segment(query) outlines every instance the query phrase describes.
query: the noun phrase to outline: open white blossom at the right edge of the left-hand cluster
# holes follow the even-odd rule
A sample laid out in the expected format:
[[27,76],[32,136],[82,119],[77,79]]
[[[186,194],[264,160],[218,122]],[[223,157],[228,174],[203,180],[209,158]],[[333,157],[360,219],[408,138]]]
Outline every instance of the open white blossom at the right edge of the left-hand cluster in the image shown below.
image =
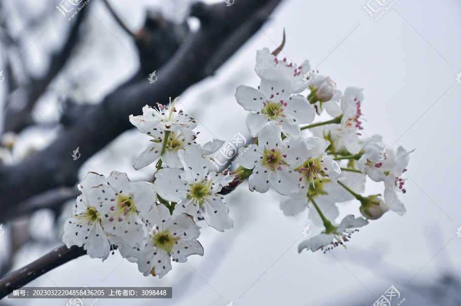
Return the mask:
[[187,213],[196,222],[198,218],[204,218],[218,231],[232,228],[234,222],[229,217],[229,209],[218,192],[234,178],[228,173],[208,173],[212,163],[203,157],[198,145],[188,146],[179,152],[179,159],[184,170],[164,168],[155,174],[157,193],[162,199],[177,203],[173,211],[175,214]]

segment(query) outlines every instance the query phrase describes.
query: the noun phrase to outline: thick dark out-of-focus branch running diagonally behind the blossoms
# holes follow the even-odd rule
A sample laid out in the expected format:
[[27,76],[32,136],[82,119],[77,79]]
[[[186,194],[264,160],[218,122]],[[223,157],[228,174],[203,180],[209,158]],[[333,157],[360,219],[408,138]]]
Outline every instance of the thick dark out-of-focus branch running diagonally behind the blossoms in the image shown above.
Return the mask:
[[[216,65],[232,55],[220,53],[223,46],[237,50],[257,32],[262,20],[268,18],[280,1],[241,0],[232,7],[222,3],[207,7],[211,12],[207,25],[191,34],[175,56],[157,71],[158,80],[154,84],[140,80],[121,86],[78,122],[60,130],[59,138],[48,148],[18,165],[0,167],[2,212],[15,211],[17,208],[11,203],[25,201],[48,189],[75,185],[79,167],[133,127],[128,120],[130,114],[139,114],[145,104],[168,101],[169,97],[178,96],[211,75],[218,68]],[[252,22],[253,19],[256,21]],[[233,41],[232,46],[228,45],[229,40]],[[70,154],[77,147],[80,147],[81,157],[73,161]]]

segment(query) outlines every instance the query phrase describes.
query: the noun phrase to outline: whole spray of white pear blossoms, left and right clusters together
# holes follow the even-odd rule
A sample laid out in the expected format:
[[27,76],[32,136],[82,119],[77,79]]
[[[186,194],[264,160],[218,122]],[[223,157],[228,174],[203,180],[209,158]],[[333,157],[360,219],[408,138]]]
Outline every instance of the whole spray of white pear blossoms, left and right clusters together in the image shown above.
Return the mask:
[[[222,194],[245,179],[251,191],[274,188],[285,195],[281,208],[286,215],[307,208],[312,222],[325,228],[302,242],[300,252],[326,252],[344,245],[368,220],[389,210],[405,213],[397,194],[406,192],[402,176],[410,152],[363,133],[362,89],[348,87],[342,93],[330,77],[310,71],[307,60],[298,66],[266,48],[257,52],[255,71],[259,86],[241,85],[235,94],[249,112],[246,124],[254,137],[253,144],[240,148],[238,169],[210,169],[207,156],[224,142],[197,144],[197,121],[176,110],[178,98],[168,107],[146,105],[142,115],[130,116],[150,137],[133,166],[156,162],[153,182],[131,182],[117,171],[109,177],[88,173],[64,227],[66,245],[83,246],[102,260],[118,249],[144,275],[161,278],[172,269],[172,260],[183,263],[192,254],[203,255],[197,241],[200,221],[218,231],[233,228]],[[312,123],[323,110],[332,119]],[[383,195],[363,195],[367,178],[384,182]],[[349,214],[335,225],[338,204],[354,199],[362,216]]]

